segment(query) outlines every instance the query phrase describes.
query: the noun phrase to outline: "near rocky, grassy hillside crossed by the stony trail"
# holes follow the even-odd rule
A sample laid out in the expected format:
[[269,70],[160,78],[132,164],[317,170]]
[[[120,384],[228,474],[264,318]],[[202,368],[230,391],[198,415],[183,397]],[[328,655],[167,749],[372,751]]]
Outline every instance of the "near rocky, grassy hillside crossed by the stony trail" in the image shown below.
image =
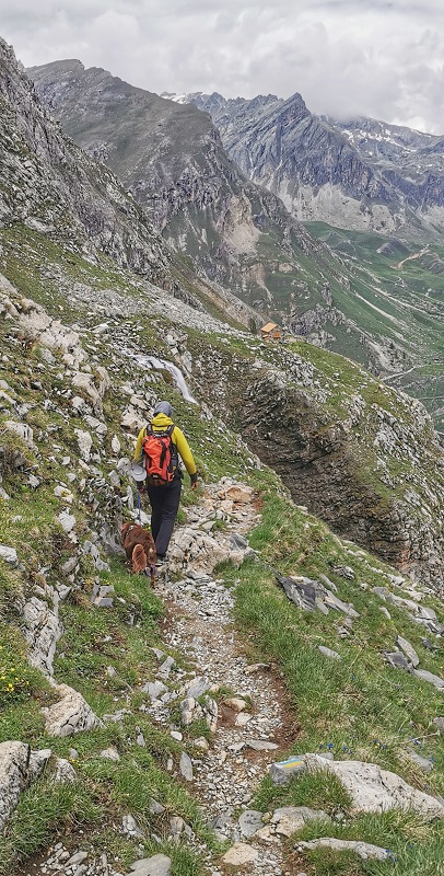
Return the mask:
[[[136,861],[147,876],[222,876],[234,863],[257,876],[315,864],[364,876],[385,872],[377,856],[395,876],[414,876],[420,864],[427,876],[439,873],[444,627],[432,586],[342,543],[293,505],[250,449],[265,456],[291,433],[295,458],[307,448],[300,473],[312,470],[315,484],[323,470],[324,477],[328,468],[340,471],[347,503],[357,473],[344,465],[359,440],[374,496],[378,468],[379,487],[398,473],[399,492],[386,484],[386,507],[396,503],[404,522],[417,495],[417,535],[411,527],[402,561],[416,539],[422,555],[410,566],[424,579],[432,570],[436,588],[440,539],[425,502],[432,508],[433,489],[443,491],[439,469],[433,486],[427,480],[440,460],[424,414],[408,413],[339,357],[309,345],[273,355],[167,295],[148,318],[141,301],[151,310],[160,290],[109,266],[103,288],[100,267],[66,262],[37,232],[23,253],[22,291],[0,279],[2,876],[14,865],[124,876]],[[40,285],[36,265],[48,253],[59,272]],[[45,308],[25,297],[31,288]],[[165,356],[159,370],[144,358],[151,351]],[[200,404],[184,400],[170,362],[187,369]],[[258,379],[248,392],[252,372]],[[165,395],[202,486],[196,495],[185,485],[166,577],[153,592],[126,570],[118,532],[137,516],[128,475],[136,433]],[[407,439],[412,451],[401,465]],[[312,449],[318,462],[329,460],[317,473]],[[278,466],[284,474],[297,464],[285,469],[288,461]],[[308,484],[305,476],[313,503]],[[297,493],[295,481],[289,485]],[[334,481],[324,493],[339,503]],[[382,522],[388,554],[399,526],[390,515]],[[272,762],[296,752],[295,777],[274,784]],[[334,757],[328,770],[337,774],[319,776],[327,763],[318,752]],[[343,768],[359,787],[341,779]],[[384,817],[369,805],[369,779],[393,809]],[[346,845],[312,849],[319,835]],[[371,843],[370,869],[347,844],[357,840]]]

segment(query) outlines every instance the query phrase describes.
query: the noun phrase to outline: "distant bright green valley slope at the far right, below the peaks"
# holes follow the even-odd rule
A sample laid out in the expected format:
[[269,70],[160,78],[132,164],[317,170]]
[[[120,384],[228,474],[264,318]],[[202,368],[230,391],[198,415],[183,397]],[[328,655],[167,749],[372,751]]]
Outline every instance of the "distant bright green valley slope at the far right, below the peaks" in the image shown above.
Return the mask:
[[[332,229],[322,222],[308,226],[344,260],[354,274],[350,291],[337,289],[338,307],[376,339],[385,335],[406,351],[406,365],[392,385],[423,401],[435,414],[437,428],[444,425],[444,247],[430,244],[420,257],[420,244],[387,241],[375,233]],[[358,297],[360,296],[360,298]],[[331,348],[351,358],[343,344]],[[346,345],[346,346],[344,346]],[[412,368],[413,367],[413,368]],[[412,370],[410,370],[412,368]]]

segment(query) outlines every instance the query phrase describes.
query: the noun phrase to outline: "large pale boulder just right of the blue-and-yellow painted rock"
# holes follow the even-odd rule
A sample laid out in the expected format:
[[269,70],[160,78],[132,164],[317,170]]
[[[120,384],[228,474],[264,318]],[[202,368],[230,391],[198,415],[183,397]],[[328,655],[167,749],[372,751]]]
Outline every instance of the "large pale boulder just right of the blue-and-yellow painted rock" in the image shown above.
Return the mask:
[[325,770],[339,779],[351,796],[353,812],[413,809],[428,820],[444,818],[443,803],[376,763],[330,761],[318,754],[305,754],[304,761],[309,771]]

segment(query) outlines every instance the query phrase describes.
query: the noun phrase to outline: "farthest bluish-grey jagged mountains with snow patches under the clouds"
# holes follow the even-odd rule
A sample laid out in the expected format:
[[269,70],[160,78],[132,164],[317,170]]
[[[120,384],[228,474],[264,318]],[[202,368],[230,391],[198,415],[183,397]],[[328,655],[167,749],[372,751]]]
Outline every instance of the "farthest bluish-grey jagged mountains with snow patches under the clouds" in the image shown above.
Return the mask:
[[313,115],[300,94],[170,94],[210,114],[234,161],[301,221],[424,235],[444,230],[444,137]]

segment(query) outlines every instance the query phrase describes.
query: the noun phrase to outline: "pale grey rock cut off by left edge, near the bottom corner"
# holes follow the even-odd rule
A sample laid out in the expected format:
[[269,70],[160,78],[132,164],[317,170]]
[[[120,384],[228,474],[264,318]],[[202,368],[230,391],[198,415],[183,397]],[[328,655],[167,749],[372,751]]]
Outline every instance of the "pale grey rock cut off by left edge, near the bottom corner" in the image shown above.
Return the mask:
[[50,750],[32,751],[25,742],[0,744],[0,830],[19,803],[20,795],[50,758]]

